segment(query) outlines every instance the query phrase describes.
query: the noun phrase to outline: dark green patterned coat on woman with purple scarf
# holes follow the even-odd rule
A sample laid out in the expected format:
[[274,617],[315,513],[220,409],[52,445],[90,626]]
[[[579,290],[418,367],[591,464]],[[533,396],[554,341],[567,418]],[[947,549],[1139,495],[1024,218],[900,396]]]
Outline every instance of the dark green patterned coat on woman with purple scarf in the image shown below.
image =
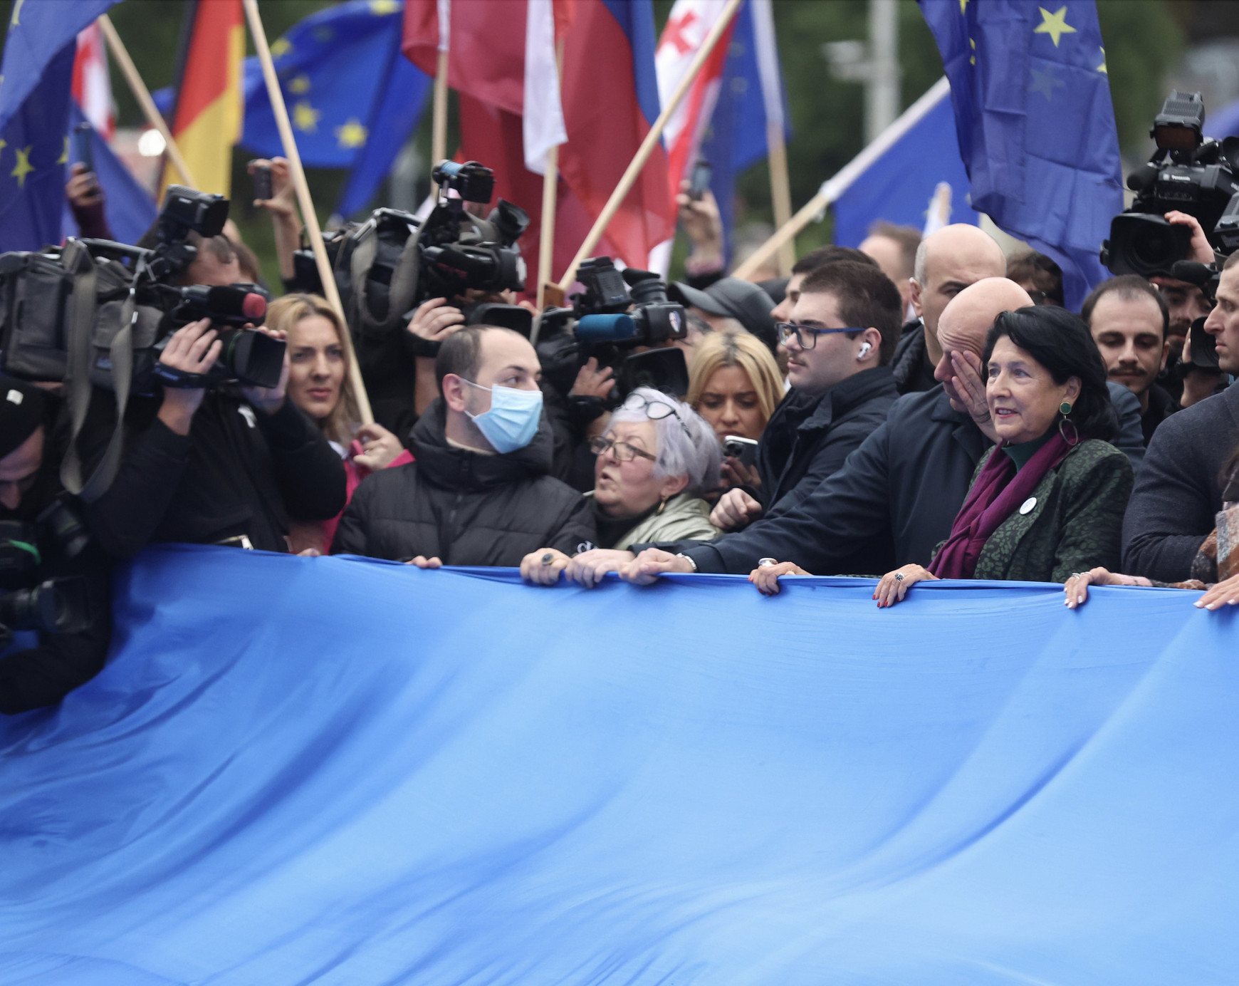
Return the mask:
[[[995,453],[981,456],[973,482]],[[1080,442],[1037,484],[1032,509],[1016,509],[990,535],[973,578],[1066,582],[1095,566],[1116,572],[1134,479],[1127,456],[1109,442]]]

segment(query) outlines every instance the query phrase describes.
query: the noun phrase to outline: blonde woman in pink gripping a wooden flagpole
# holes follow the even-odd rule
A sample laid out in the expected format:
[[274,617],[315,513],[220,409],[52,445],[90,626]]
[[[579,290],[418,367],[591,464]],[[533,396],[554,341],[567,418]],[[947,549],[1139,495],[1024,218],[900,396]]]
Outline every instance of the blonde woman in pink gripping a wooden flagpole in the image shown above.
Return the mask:
[[[370,473],[413,461],[400,439],[382,424],[361,424],[348,376],[353,351],[326,300],[312,294],[286,294],[268,308],[266,326],[286,332],[289,398],[318,423],[344,460],[349,500]],[[294,522],[290,548],[299,554],[326,553],[338,523],[338,515],[330,521]]]

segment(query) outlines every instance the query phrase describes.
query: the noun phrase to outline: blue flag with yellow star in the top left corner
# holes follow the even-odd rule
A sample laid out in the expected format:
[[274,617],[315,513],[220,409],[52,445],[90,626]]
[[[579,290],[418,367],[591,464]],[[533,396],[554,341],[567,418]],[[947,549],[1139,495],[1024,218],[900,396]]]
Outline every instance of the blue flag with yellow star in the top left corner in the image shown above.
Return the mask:
[[0,66],[0,252],[61,242],[77,33],[115,0],[19,0]]

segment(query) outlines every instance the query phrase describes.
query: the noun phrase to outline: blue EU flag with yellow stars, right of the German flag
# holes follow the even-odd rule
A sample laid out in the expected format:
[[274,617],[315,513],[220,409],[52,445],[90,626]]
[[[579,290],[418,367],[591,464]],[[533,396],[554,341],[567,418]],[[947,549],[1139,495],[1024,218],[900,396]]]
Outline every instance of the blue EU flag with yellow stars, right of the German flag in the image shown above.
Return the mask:
[[[301,160],[352,174],[336,211],[364,208],[418,125],[431,79],[400,51],[404,4],[352,0],[313,14],[271,46]],[[258,155],[282,154],[258,58],[245,60],[245,130]]]

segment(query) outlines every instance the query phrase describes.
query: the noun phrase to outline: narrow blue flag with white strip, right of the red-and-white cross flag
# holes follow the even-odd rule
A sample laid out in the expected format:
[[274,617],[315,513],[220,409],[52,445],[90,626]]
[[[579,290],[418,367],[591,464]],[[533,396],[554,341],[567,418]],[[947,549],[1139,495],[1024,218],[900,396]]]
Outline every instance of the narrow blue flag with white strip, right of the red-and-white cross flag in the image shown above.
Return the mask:
[[[769,0],[748,0],[736,14],[719,100],[699,151],[714,170],[710,191],[719,202],[729,258],[735,228],[736,179],[768,153],[769,110],[782,118],[784,139],[792,136],[792,115],[787,112],[773,24],[767,25],[767,31],[758,24],[760,17],[769,17]],[[777,92],[767,93],[767,88]]]

